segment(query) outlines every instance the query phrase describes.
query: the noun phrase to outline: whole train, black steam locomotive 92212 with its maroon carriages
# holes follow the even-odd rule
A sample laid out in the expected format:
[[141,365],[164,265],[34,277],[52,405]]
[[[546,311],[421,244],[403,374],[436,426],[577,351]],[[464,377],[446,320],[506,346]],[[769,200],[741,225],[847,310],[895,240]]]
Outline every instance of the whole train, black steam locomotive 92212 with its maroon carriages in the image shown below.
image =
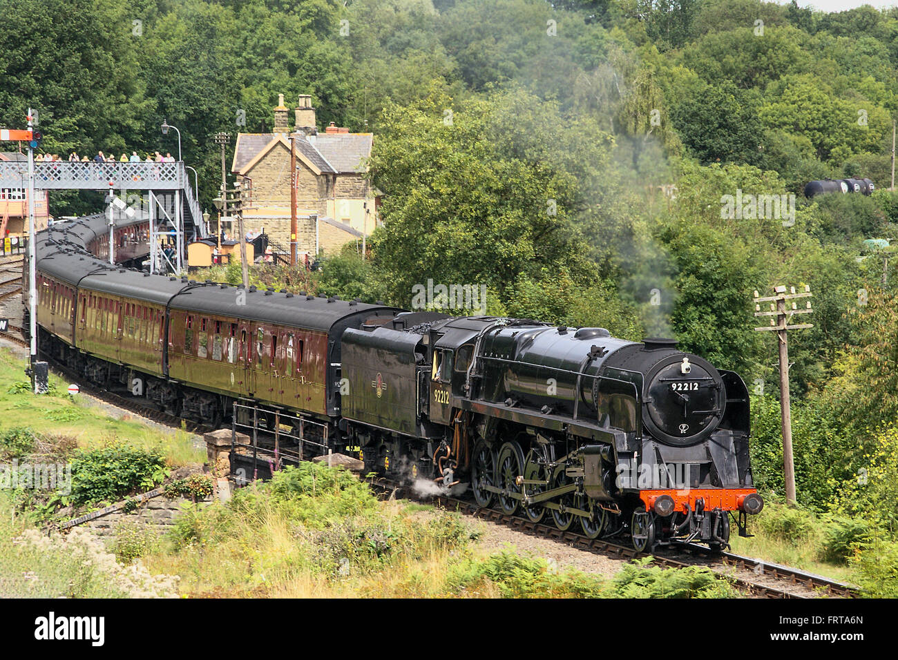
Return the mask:
[[[142,253],[145,228],[119,224],[113,260]],[[744,534],[762,509],[743,381],[674,340],[154,276],[94,256],[110,250],[102,216],[55,224],[36,248],[48,356],[214,426],[251,406],[271,431],[289,413],[297,452],[281,437],[269,470],[357,453],[562,531],[629,532],[637,550],[724,548],[731,518]]]

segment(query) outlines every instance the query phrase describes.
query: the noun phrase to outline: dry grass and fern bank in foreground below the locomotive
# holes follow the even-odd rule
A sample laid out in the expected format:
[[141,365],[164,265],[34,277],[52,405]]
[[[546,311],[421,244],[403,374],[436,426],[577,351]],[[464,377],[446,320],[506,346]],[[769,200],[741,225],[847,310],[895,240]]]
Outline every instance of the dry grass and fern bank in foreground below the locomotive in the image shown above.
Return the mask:
[[378,501],[316,463],[277,473],[226,505],[186,506],[162,546],[137,553],[193,597],[733,597],[707,569],[642,561],[612,580],[514,549],[480,550],[462,515]]

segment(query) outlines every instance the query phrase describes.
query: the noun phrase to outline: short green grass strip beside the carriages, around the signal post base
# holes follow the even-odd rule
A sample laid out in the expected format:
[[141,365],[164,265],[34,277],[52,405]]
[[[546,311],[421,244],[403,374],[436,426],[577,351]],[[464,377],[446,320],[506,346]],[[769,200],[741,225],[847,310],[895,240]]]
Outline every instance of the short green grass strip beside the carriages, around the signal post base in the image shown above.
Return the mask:
[[50,374],[50,393],[34,396],[27,387],[26,363],[12,350],[0,348],[0,432],[31,427],[41,435],[75,437],[84,449],[126,442],[160,451],[172,467],[206,460],[205,448],[195,447],[187,432],[150,427],[128,413],[111,418],[100,404],[69,395],[71,383],[56,374]]

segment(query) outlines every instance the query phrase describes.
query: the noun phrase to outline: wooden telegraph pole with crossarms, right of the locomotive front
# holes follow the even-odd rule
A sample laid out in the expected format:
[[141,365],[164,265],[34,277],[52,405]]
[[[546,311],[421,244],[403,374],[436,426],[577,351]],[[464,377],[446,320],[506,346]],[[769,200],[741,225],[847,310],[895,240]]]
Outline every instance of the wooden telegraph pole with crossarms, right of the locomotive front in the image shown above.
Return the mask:
[[[765,297],[759,297],[758,292],[754,292],[754,315],[776,317],[776,321],[772,318],[770,319],[769,327],[755,328],[754,330],[759,332],[775,330],[779,339],[779,406],[782,410],[783,473],[786,480],[786,501],[789,504],[796,504],[795,459],[792,453],[792,414],[788,398],[787,330],[804,330],[814,327],[811,323],[788,324],[792,314],[809,314],[812,312],[811,301],[807,301],[804,309],[798,309],[798,304],[793,302],[796,298],[811,297],[811,287],[805,286],[805,290],[802,293],[796,293],[795,286],[792,286],[790,293],[787,294],[785,286],[774,286],[773,292],[776,295]],[[770,312],[762,312],[761,303],[770,303]],[[788,309],[788,307],[791,308]]]

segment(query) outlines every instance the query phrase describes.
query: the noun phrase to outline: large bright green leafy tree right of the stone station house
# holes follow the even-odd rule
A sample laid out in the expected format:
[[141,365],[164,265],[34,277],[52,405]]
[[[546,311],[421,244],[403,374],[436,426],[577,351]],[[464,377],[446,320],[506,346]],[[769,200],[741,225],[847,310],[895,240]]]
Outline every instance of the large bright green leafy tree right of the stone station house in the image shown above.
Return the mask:
[[602,172],[609,136],[521,90],[462,107],[435,92],[388,107],[383,127],[371,161],[383,227],[372,247],[394,302],[428,278],[505,292],[542,268],[568,268],[576,282],[594,275],[571,219],[589,211],[577,180]]

